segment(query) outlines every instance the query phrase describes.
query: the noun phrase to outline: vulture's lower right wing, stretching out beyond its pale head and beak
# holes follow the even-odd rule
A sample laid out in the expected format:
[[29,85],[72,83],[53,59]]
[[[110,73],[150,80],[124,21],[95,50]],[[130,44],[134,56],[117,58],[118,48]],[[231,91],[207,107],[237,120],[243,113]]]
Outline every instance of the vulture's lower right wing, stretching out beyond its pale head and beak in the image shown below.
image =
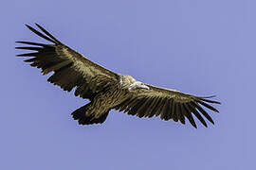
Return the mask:
[[196,124],[192,115],[207,127],[207,123],[203,118],[204,116],[210,123],[214,124],[208,112],[202,108],[204,106],[210,110],[219,112],[208,104],[220,104],[218,101],[208,99],[213,96],[199,97],[152,85],[147,86],[150,90],[137,89],[130,92],[130,97],[115,109],[128,112],[131,115],[137,115],[138,117],[160,115],[160,118],[163,120],[173,119],[175,122],[179,121],[182,124],[185,124],[186,117],[193,127],[196,127]]

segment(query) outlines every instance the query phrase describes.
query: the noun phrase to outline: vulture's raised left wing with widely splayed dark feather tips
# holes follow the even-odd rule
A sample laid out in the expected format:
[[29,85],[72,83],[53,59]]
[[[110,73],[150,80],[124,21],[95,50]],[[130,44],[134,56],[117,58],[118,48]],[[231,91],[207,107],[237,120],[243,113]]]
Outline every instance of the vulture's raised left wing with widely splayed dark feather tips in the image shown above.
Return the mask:
[[[27,25],[26,25],[27,26]],[[62,42],[54,38],[45,28],[39,26],[40,31],[27,26],[32,32],[53,44],[38,42],[18,42],[29,46],[19,46],[16,49],[34,51],[32,53],[20,54],[18,57],[32,57],[26,59],[31,66],[41,68],[43,75],[54,72],[47,80],[54,85],[60,86],[64,91],[70,92],[76,88],[75,95],[90,100],[113,82],[118,80],[118,75],[109,71],[101,65],[86,59],[81,54],[72,50]]]

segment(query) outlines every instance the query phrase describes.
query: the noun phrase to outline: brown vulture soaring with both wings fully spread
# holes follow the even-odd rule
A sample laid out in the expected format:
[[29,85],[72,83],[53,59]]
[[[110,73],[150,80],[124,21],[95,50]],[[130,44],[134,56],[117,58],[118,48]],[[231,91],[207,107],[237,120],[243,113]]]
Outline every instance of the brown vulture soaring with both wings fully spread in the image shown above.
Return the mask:
[[101,124],[110,110],[127,112],[138,117],[160,116],[160,119],[185,124],[189,121],[197,127],[194,116],[208,127],[205,119],[214,124],[209,109],[219,112],[211,105],[220,104],[213,96],[196,96],[176,90],[159,88],[137,81],[129,75],[112,72],[87,59],[53,37],[46,29],[27,26],[33,33],[48,43],[17,42],[25,44],[16,49],[29,50],[17,57],[26,57],[32,67],[42,70],[43,75],[52,73],[47,81],[60,86],[64,91],[73,89],[76,96],[90,102],[72,112],[80,125]]

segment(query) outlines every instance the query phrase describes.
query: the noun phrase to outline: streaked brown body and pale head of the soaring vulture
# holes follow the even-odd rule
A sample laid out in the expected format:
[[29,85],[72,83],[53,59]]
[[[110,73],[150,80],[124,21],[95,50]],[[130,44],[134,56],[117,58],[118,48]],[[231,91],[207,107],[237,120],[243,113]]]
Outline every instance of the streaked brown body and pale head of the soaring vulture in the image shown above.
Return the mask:
[[99,119],[102,115],[108,114],[109,110],[119,106],[123,101],[128,99],[132,91],[137,89],[147,89],[141,82],[132,76],[119,75],[112,81],[111,85],[106,87],[101,93],[97,93],[94,99],[82,109],[73,112],[75,119],[79,119],[79,123],[86,124],[84,119],[80,119],[82,114],[93,116],[93,119]]

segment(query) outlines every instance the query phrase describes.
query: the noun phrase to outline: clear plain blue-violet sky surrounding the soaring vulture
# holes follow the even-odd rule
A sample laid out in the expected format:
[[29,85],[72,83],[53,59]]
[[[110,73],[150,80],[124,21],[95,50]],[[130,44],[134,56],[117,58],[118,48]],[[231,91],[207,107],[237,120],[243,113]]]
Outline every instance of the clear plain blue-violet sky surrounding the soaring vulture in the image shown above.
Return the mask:
[[[255,0],[9,0],[0,8],[0,169],[255,169]],[[87,101],[15,58],[15,41],[44,42],[24,26],[35,22],[115,72],[217,94],[215,126],[115,110],[102,125],[79,126],[70,113]]]

